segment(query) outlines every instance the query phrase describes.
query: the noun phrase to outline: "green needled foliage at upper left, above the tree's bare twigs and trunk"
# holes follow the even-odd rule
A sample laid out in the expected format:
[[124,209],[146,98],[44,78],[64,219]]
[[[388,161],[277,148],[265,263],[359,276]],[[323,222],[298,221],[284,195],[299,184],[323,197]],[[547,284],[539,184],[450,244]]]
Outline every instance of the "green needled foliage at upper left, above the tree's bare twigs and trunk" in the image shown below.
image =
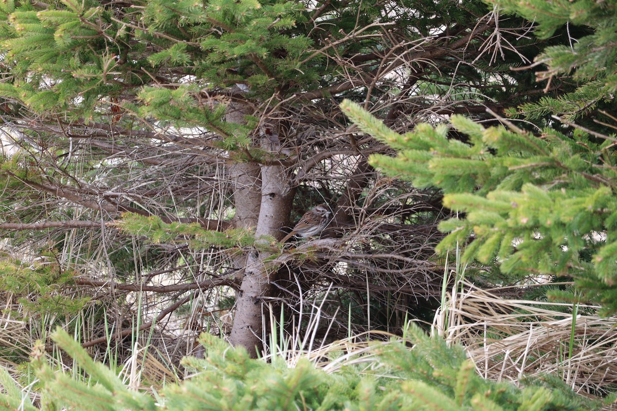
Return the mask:
[[[315,51],[315,39],[336,42],[358,24],[384,18],[379,7],[362,6],[362,20],[354,11],[331,25],[329,9],[337,6],[329,6],[320,22],[325,28],[314,30],[313,11],[302,2],[273,0],[155,0],[138,7],[67,1],[40,7],[0,3],[0,52],[10,71],[0,84],[1,97],[62,121],[126,121],[132,127],[133,116],[138,124],[202,127],[222,137],[216,148],[232,152],[234,161],[272,159],[249,147],[255,121],[222,120],[231,86],[248,86],[249,100],[323,87],[337,66]],[[379,31],[365,30],[365,39],[342,42],[332,52],[372,49],[370,33]]]

